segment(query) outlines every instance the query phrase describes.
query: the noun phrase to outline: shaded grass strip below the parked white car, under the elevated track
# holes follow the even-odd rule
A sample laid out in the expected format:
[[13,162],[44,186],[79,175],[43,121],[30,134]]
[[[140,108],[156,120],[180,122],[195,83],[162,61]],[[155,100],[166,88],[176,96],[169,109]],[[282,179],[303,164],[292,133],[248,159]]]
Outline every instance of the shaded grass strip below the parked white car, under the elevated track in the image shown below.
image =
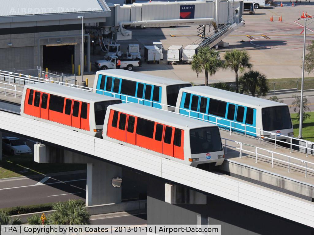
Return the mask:
[[3,154],[0,161],[0,179],[85,169],[86,164],[39,164],[34,162],[33,154],[22,156]]

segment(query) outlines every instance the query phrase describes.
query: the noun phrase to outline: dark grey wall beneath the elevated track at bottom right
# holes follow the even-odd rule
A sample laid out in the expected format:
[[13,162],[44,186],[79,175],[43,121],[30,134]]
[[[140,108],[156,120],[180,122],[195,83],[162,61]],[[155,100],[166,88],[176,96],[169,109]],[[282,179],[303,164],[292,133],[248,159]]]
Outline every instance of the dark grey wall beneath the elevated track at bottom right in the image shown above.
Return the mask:
[[201,221],[202,224],[221,224],[222,235],[313,235],[310,227],[214,195],[207,195],[207,205],[166,203],[165,182],[149,178],[148,224],[197,224]]

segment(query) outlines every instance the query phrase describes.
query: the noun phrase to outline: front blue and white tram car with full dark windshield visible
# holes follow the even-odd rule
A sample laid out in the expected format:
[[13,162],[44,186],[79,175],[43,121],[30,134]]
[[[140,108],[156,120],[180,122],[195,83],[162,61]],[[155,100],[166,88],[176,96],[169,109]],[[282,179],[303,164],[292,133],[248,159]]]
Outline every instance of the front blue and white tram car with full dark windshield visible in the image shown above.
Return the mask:
[[264,140],[293,136],[288,105],[209,86],[180,89],[176,112],[214,123],[217,118],[219,127],[251,136],[261,134]]

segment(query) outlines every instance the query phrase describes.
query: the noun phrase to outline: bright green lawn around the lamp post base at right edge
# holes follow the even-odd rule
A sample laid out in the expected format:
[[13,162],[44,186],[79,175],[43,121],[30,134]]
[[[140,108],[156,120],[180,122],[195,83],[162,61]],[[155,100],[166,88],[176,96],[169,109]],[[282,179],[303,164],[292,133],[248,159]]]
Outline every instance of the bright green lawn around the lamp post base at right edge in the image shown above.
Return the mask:
[[[302,136],[304,139],[314,142],[314,112],[309,112],[311,118],[306,119],[303,123]],[[296,113],[291,113],[293,131],[295,137],[299,135],[299,119],[296,118]]]

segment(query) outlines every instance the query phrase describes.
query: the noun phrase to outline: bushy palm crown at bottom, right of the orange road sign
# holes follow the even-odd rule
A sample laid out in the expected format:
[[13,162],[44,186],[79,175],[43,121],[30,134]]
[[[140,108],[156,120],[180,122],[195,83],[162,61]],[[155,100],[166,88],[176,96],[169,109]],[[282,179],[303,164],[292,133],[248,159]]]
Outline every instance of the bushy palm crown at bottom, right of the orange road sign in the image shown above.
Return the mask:
[[55,224],[89,224],[89,214],[79,201],[57,202],[52,209]]

